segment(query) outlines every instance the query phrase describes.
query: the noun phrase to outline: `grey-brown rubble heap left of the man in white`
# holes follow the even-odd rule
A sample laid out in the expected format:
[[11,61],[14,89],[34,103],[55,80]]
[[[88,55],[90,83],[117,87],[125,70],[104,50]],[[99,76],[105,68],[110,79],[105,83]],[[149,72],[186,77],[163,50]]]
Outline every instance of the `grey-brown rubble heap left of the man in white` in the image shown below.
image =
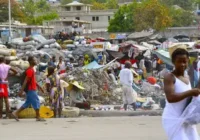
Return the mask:
[[116,105],[122,103],[121,87],[111,83],[104,71],[75,68],[65,78],[66,82],[70,82],[70,80],[78,81],[85,88],[83,94],[92,104]]

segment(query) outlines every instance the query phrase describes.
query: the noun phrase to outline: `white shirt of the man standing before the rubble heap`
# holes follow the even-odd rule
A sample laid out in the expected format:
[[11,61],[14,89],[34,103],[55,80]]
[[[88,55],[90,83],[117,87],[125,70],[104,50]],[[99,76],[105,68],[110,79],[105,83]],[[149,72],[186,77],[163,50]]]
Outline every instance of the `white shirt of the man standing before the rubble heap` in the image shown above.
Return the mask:
[[119,74],[120,83],[126,86],[132,86],[133,84],[133,73],[130,69],[122,69]]

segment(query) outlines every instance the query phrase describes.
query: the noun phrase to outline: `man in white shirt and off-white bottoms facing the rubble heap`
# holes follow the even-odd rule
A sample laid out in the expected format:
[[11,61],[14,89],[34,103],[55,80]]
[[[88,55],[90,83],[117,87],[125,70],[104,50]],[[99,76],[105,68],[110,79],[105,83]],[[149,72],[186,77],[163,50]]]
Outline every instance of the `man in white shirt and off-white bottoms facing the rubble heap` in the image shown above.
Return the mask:
[[128,105],[132,105],[134,110],[136,110],[136,96],[137,93],[133,90],[133,73],[130,70],[131,63],[129,61],[125,62],[125,68],[120,71],[120,83],[123,89],[123,103],[124,109],[127,110]]

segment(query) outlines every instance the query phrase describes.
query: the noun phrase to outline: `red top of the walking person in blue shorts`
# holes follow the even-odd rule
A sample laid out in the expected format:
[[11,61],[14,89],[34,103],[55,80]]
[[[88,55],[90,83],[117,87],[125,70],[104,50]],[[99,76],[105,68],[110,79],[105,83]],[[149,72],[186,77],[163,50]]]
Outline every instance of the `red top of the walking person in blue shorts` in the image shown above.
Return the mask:
[[29,81],[27,81],[28,90],[36,90],[37,89],[37,85],[36,85],[34,69],[33,68],[28,68],[26,70],[26,76],[30,79]]

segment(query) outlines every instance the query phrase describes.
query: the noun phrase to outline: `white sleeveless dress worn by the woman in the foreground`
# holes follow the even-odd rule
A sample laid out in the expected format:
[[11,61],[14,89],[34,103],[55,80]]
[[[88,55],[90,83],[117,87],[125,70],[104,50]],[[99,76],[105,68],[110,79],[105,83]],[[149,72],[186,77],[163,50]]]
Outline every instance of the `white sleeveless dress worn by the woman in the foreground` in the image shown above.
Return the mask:
[[[175,93],[179,94],[191,90],[191,84],[187,85],[176,78],[174,88]],[[187,100],[184,99],[176,103],[166,101],[166,107],[162,115],[162,124],[168,140],[199,140],[196,126],[184,124],[185,118],[182,117],[182,113],[187,106]]]

